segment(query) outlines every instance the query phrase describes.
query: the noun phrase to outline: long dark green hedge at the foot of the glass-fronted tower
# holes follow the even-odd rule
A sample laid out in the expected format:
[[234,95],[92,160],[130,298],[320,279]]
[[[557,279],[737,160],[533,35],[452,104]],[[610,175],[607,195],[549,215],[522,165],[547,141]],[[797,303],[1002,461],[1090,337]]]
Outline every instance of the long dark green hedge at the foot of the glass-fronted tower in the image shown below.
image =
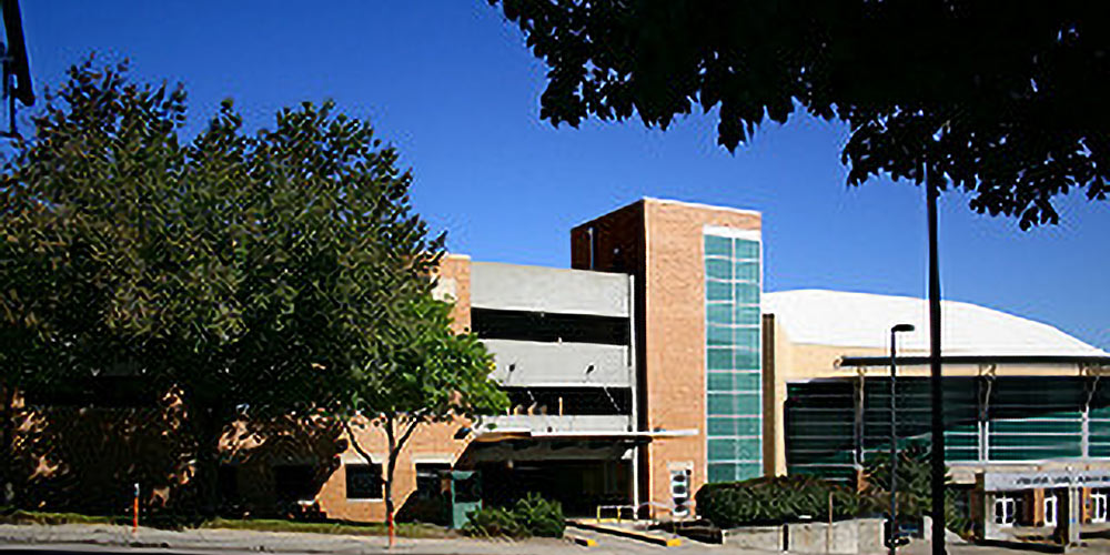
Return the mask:
[[706,484],[695,500],[698,514],[720,528],[750,524],[825,519],[833,496],[833,517],[859,514],[867,500],[847,487],[811,476],[760,477],[745,482]]

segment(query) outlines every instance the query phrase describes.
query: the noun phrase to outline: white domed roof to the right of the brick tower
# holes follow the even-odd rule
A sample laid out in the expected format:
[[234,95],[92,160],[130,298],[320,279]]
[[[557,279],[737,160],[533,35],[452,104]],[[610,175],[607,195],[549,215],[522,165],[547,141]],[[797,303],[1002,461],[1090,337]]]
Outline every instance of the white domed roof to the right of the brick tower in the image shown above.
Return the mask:
[[[924,299],[796,290],[765,293],[765,313],[794,343],[848,347],[889,346],[890,326],[914,324],[899,349],[928,352],[929,306]],[[941,301],[945,356],[1110,356],[1048,324],[983,306]]]

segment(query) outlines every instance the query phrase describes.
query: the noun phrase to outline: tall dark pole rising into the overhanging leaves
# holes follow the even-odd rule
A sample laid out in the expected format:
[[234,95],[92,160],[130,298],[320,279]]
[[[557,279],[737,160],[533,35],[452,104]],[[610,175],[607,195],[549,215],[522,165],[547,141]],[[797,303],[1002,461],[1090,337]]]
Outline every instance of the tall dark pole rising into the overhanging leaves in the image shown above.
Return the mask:
[[945,549],[945,415],[944,387],[940,372],[940,263],[937,245],[937,180],[929,179],[925,165],[926,208],[929,220],[929,375],[932,413],[932,553],[946,555]]

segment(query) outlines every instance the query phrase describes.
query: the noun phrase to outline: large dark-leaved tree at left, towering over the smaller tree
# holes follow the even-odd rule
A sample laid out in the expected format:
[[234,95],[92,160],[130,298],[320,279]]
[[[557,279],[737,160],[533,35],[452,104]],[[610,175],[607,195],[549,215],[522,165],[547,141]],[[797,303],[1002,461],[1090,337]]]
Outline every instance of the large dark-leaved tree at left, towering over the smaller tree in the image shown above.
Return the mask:
[[191,141],[182,88],[90,59],[46,98],[0,175],[0,334],[23,387],[123,365],[186,407],[201,508],[236,420],[335,401],[413,317],[443,238],[370,124],[332,103],[248,133],[230,101]]

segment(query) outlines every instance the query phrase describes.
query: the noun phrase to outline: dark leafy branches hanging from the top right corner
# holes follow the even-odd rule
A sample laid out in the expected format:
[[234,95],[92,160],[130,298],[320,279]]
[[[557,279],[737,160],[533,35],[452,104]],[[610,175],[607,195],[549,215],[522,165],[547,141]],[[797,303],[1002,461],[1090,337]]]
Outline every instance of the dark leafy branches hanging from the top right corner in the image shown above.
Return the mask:
[[1054,223],[1110,188],[1110,16],[1098,2],[490,0],[548,67],[553,124],[715,111],[733,151],[801,109],[845,121],[848,182],[889,174]]

